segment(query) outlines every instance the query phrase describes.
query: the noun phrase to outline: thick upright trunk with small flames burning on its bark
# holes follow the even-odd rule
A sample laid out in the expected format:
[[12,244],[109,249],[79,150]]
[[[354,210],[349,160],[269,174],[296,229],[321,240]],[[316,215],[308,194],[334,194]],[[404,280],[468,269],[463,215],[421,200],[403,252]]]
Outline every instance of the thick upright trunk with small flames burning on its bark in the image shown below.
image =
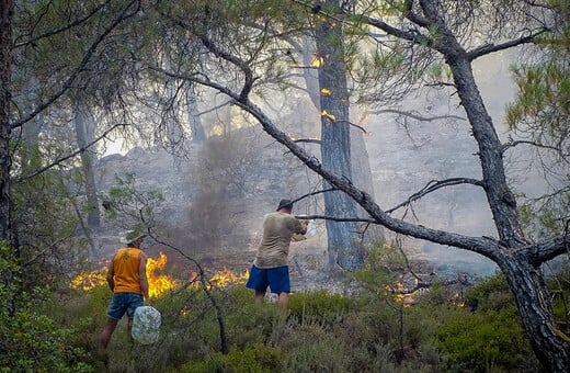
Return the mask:
[[[338,0],[319,2],[322,7],[339,7]],[[346,179],[352,179],[349,92],[341,24],[318,20],[315,38],[319,67],[321,109],[322,165]],[[324,194],[327,216],[356,217],[356,203],[341,191]],[[347,270],[362,267],[364,258],[355,223],[327,221],[329,264],[337,262]]]

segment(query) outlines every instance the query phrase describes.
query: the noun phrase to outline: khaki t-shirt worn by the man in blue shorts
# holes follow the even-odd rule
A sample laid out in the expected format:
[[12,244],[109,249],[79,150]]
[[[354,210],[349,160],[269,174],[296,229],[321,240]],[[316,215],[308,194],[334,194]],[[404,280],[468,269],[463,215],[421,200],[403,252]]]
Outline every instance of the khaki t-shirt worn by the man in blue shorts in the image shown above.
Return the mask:
[[304,234],[300,221],[286,213],[266,214],[263,219],[263,238],[253,264],[258,268],[287,265],[290,238],[294,234]]

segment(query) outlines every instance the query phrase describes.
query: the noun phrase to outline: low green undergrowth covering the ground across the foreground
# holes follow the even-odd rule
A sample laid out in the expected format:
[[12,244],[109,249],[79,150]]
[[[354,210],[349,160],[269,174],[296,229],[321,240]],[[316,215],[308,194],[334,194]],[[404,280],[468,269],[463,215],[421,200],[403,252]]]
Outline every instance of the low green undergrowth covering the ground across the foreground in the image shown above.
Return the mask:
[[[9,261],[3,274],[18,271]],[[158,342],[133,343],[119,323],[105,353],[98,338],[111,292],[19,292],[0,286],[1,372],[536,372],[538,362],[513,297],[497,274],[461,298],[444,284],[404,304],[377,268],[354,273],[360,292],[293,293],[289,312],[254,304],[243,283],[182,286],[152,299]],[[555,314],[567,327],[570,271],[562,268]],[[554,281],[554,280],[552,280]],[[207,290],[207,291],[205,291]],[[563,330],[568,332],[568,330]]]

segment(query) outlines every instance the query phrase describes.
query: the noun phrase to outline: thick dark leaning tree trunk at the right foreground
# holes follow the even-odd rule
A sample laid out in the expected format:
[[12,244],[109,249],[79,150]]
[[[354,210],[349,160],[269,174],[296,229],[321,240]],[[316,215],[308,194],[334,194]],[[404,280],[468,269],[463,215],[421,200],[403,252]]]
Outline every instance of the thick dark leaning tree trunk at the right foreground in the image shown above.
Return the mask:
[[516,200],[506,183],[501,142],[477,89],[468,56],[454,39],[448,39],[445,45],[446,61],[479,146],[485,191],[502,244],[502,249],[491,259],[505,275],[525,331],[543,366],[548,372],[567,372],[570,340],[555,327],[551,299],[539,271],[540,263],[531,264],[529,242],[524,238]]

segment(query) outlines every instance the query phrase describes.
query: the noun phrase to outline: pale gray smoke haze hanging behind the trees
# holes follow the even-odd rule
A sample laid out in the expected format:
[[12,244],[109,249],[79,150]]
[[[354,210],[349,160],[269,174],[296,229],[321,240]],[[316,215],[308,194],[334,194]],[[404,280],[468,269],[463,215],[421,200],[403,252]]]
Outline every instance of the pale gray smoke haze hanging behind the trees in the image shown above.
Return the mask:
[[[500,137],[505,140],[509,136],[504,124],[505,104],[514,95],[514,84],[509,72],[510,61],[503,57],[503,54],[497,54],[478,60],[475,68],[483,100]],[[394,109],[428,117],[454,117],[404,121],[401,116],[386,113],[372,115],[366,121],[368,135],[365,142],[375,196],[380,207],[387,210],[398,205],[432,180],[481,177],[476,143],[467,121],[455,117],[465,118],[465,113],[452,93],[449,90],[425,90]],[[303,109],[297,108],[287,115],[289,121],[310,128],[308,123],[318,123],[318,113],[311,117],[305,115]],[[308,106],[307,110],[312,109]],[[351,108],[354,122],[362,116],[360,110]],[[232,122],[236,115],[239,117],[236,110],[228,110],[224,115],[231,117]],[[219,124],[219,116],[204,117],[203,122],[206,125],[210,123],[210,126]],[[238,122],[244,123],[242,118]],[[221,136],[214,146],[190,144],[187,158],[176,163],[178,168],[172,157],[162,150],[149,152],[135,148],[124,157],[103,158],[101,166],[105,171],[100,188],[109,189],[115,174],[137,173],[141,190],[157,190],[164,194],[159,221],[168,231],[166,236],[170,235],[181,246],[191,247],[190,253],[202,250],[210,255],[215,251],[213,248],[231,252],[232,263],[246,267],[253,259],[263,214],[272,211],[282,196],[297,197],[317,190],[318,179],[259,126],[244,127],[229,131],[230,135]],[[318,155],[316,146],[307,145],[307,149]],[[244,162],[235,162],[239,159]],[[209,162],[207,167],[204,166],[206,160]],[[228,170],[213,172],[216,165],[212,162],[216,160],[218,166],[226,165],[226,169],[228,162],[235,162],[229,167],[232,171],[249,162],[243,169],[247,177],[238,184],[236,176]],[[517,189],[536,188],[532,179],[521,179],[520,174],[514,174],[513,179],[517,181]],[[218,188],[229,184],[236,184],[230,185],[235,187],[233,191]],[[412,207],[407,211],[406,218],[419,224],[464,235],[497,236],[485,194],[479,188],[461,185],[440,190],[414,202]],[[399,210],[394,214],[402,216],[404,212]],[[296,213],[322,214],[322,204],[319,199],[311,197],[300,202]],[[318,234],[293,249],[294,261],[296,252],[306,256],[307,250],[316,262],[324,259],[324,224],[318,222],[317,225]],[[387,233],[387,238],[396,237]],[[465,250],[411,238],[403,240],[403,247],[411,258],[428,260],[435,271],[488,275],[495,269],[491,261]],[[229,256],[225,258],[229,260]]]

